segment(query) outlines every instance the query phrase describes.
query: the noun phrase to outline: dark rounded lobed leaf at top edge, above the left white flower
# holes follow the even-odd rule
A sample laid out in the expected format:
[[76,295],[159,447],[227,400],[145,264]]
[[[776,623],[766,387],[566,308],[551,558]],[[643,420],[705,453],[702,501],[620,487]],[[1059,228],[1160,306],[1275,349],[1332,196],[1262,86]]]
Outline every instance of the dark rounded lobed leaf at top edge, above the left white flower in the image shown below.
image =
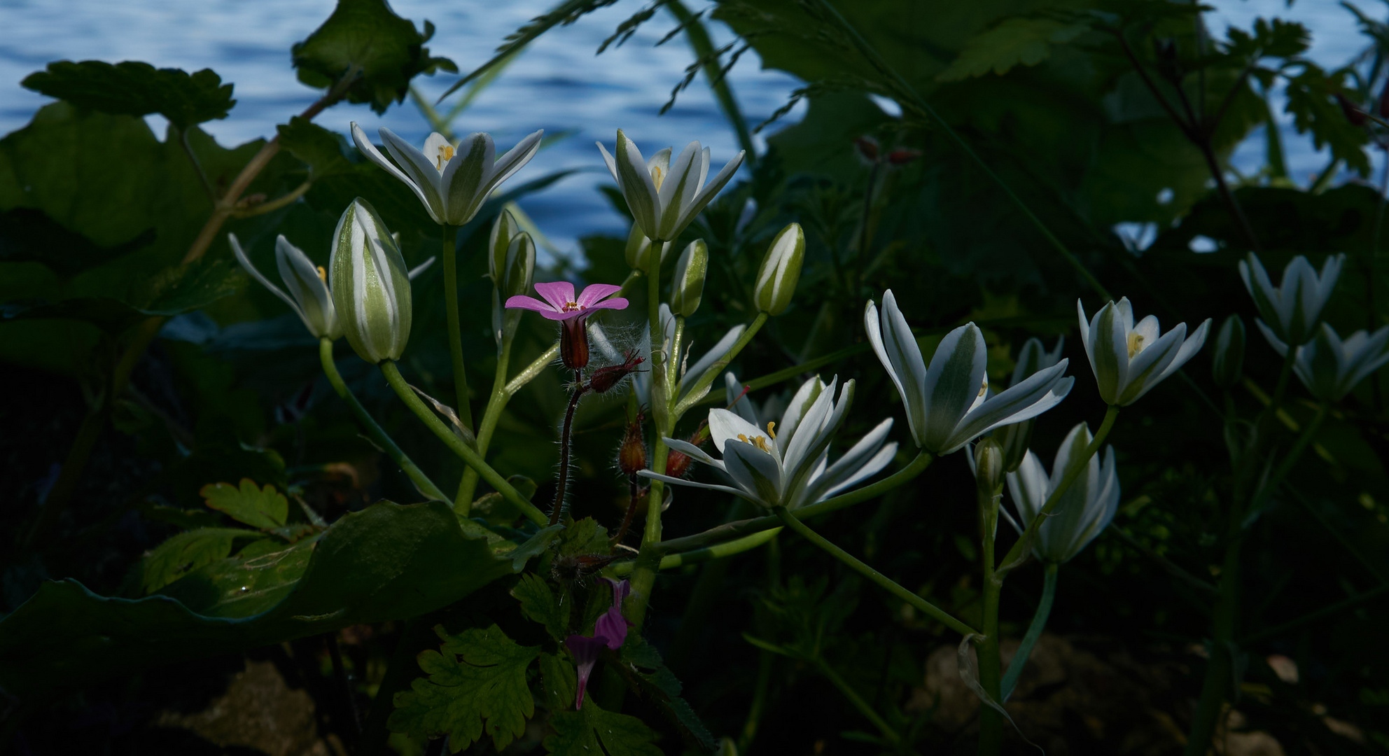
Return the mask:
[[415,75],[458,71],[449,58],[429,57],[424,43],[431,36],[433,24],[425,21],[421,35],[385,0],[338,0],[328,21],[294,44],[294,68],[299,81],[318,89],[333,86],[350,69],[356,71],[347,100],[385,113],[390,103],[406,99]]

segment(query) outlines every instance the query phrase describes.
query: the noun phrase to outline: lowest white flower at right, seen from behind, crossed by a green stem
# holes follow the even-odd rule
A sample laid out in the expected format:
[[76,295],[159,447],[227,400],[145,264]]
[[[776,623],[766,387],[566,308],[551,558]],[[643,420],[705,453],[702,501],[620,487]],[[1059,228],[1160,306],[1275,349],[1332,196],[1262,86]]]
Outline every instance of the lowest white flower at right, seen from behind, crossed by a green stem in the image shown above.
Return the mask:
[[[1071,428],[1057,449],[1051,475],[1047,475],[1042,460],[1032,452],[1028,452],[1017,472],[1008,472],[1008,495],[1018,509],[1018,520],[1013,527],[1020,534],[1042,511],[1047,498],[1065,477],[1071,460],[1085,453],[1090,439],[1090,428],[1081,422]],[[1061,495],[1051,514],[1038,525],[1032,553],[1043,561],[1060,564],[1070,560],[1108,527],[1118,507],[1120,478],[1114,468],[1114,447],[1106,446],[1104,463],[1100,464],[1100,454],[1092,456],[1081,477]]]

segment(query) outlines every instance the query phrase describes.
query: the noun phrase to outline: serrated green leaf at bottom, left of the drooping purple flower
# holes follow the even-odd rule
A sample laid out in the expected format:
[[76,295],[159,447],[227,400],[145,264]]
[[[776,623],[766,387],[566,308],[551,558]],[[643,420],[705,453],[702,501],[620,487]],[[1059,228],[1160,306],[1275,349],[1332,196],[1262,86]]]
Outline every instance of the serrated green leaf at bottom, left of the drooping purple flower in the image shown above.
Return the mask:
[[388,725],[426,738],[449,735],[454,753],[482,739],[485,730],[501,750],[525,732],[525,720],[535,714],[526,668],[540,648],[518,645],[497,625],[458,635],[440,625],[435,632],[443,645],[419,655],[419,668],[429,678],[396,693]]

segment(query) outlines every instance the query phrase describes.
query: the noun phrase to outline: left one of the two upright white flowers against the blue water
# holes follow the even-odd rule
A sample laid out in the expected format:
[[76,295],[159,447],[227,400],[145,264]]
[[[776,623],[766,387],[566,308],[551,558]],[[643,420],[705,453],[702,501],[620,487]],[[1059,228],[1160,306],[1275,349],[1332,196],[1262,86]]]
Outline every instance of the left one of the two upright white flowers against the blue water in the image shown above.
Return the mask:
[[371,143],[367,132],[361,131],[356,121],[351,124],[351,138],[357,149],[386,172],[406,182],[436,224],[447,225],[471,221],[493,189],[535,157],[540,150],[542,136],[544,129],[531,133],[497,158],[497,147],[488,133],[469,133],[454,147],[442,133],[435,132],[425,139],[425,149],[421,151],[390,129],[382,128],[381,140],[390,157],[396,158],[396,163],[392,163]]

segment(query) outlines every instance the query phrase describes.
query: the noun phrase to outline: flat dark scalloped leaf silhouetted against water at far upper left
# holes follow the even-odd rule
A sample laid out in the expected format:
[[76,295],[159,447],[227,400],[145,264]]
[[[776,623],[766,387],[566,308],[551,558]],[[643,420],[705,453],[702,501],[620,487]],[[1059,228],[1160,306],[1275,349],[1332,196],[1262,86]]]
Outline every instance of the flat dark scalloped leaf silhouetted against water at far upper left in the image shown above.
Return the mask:
[[47,71],[29,74],[19,83],[83,110],[113,115],[158,113],[179,131],[226,118],[226,111],[236,104],[232,85],[224,85],[211,68],[189,74],[139,61],[113,65],[99,60],[60,60],[50,63]]

